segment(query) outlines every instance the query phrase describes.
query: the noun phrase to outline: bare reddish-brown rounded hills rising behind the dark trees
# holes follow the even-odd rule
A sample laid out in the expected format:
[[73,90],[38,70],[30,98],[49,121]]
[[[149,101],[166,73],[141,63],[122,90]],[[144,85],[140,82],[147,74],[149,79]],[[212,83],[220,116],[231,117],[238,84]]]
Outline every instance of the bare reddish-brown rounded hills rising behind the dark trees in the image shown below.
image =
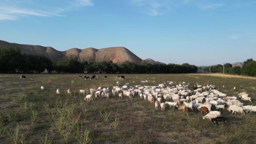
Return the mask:
[[0,48],[14,47],[21,50],[21,53],[26,54],[40,54],[45,55],[51,59],[52,62],[58,62],[63,59],[70,58],[71,56],[76,59],[84,59],[85,61],[113,61],[114,63],[123,63],[125,61],[134,62],[139,64],[146,62],[149,64],[161,63],[153,59],[141,59],[130,50],[124,47],[111,47],[103,49],[86,48],[77,49],[72,48],[66,51],[58,51],[52,47],[44,47],[39,45],[23,45],[17,43],[9,43],[0,40]]

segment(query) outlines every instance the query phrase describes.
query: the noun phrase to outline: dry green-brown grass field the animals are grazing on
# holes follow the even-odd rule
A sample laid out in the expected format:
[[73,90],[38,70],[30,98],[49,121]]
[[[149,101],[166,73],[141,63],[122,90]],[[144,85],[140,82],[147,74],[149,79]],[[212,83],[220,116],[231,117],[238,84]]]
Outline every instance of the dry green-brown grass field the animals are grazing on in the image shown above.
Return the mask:
[[[149,80],[148,85],[174,82],[214,84],[228,95],[246,91],[256,105],[256,80],[189,74],[99,74],[85,81],[79,74],[0,74],[0,144],[255,144],[256,116],[231,115],[220,110],[226,124],[202,120],[198,111],[155,110],[140,98],[99,98],[84,101],[79,89],[102,88]],[[225,88],[222,88],[225,85]],[[44,86],[45,90],[41,90]],[[236,87],[237,90],[233,91]],[[60,88],[61,94],[56,94]],[[66,94],[70,88],[71,95]],[[249,105],[244,102],[244,105]]]

